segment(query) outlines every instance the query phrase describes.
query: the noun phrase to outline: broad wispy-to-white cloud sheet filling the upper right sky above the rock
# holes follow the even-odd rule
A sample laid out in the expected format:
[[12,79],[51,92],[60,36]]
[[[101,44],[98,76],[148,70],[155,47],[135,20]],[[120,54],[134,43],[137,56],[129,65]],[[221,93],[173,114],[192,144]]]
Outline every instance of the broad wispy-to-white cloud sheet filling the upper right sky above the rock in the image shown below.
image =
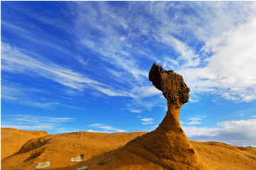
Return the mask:
[[[99,52],[100,60],[122,68],[122,72],[111,72],[114,77],[120,79],[124,73],[129,73],[137,80],[130,78],[133,86],[146,84],[144,68],[137,67],[143,58],[159,62],[166,69],[176,69],[188,86],[198,93],[211,92],[239,101],[256,98],[255,69],[250,64],[255,62],[252,55],[255,53],[252,36],[255,34],[255,2],[129,1],[126,7],[129,10],[124,11],[122,7],[115,8],[107,1],[77,1],[70,5],[78,14],[75,18],[76,33],[82,44]],[[184,10],[187,12],[184,13]],[[86,21],[85,16],[89,18]],[[157,25],[153,24],[156,22]],[[95,37],[90,34],[92,31],[102,36]],[[244,41],[240,41],[241,38]],[[145,43],[137,43],[139,39]],[[191,42],[205,45],[198,50]],[[158,51],[175,55],[162,52],[156,58],[153,50],[144,47],[151,43],[159,47]]]

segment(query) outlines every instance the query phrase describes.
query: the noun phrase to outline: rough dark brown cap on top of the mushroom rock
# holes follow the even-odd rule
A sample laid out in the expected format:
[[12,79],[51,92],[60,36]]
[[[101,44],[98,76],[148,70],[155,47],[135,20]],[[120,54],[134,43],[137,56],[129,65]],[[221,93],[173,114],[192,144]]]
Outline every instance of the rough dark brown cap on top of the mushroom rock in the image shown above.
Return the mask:
[[166,71],[154,62],[149,72],[149,81],[163,92],[164,97],[168,96],[171,102],[188,102],[190,89],[183,81],[183,77],[173,70]]

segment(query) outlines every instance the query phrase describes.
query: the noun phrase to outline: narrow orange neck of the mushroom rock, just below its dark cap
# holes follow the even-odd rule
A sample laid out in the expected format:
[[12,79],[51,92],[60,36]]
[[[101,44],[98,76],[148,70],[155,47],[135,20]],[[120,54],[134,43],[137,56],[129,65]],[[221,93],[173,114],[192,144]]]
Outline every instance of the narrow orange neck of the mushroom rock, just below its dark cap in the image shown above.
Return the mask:
[[168,111],[166,112],[166,116],[164,120],[160,123],[159,128],[161,130],[180,130],[181,123],[178,119],[182,104],[177,102],[173,102],[169,97],[167,99]]

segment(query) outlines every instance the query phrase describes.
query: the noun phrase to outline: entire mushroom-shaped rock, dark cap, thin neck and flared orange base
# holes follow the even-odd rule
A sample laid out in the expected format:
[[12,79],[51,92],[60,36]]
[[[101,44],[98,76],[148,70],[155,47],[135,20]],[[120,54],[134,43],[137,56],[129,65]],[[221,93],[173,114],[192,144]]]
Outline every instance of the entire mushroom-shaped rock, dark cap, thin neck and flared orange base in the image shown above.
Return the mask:
[[129,152],[166,169],[211,169],[199,157],[178,120],[181,106],[187,103],[189,98],[189,88],[183,77],[154,63],[149,72],[149,81],[163,92],[168,111],[156,130],[137,137],[125,147]]

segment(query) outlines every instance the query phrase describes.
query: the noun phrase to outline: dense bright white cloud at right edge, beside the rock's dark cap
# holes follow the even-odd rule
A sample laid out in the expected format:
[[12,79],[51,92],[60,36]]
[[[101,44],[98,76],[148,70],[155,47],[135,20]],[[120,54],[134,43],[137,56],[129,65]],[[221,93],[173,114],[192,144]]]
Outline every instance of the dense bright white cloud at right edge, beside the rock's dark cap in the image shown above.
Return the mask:
[[206,58],[206,67],[181,71],[192,91],[213,92],[234,101],[255,100],[255,28],[256,18],[208,40],[203,50],[214,54]]

